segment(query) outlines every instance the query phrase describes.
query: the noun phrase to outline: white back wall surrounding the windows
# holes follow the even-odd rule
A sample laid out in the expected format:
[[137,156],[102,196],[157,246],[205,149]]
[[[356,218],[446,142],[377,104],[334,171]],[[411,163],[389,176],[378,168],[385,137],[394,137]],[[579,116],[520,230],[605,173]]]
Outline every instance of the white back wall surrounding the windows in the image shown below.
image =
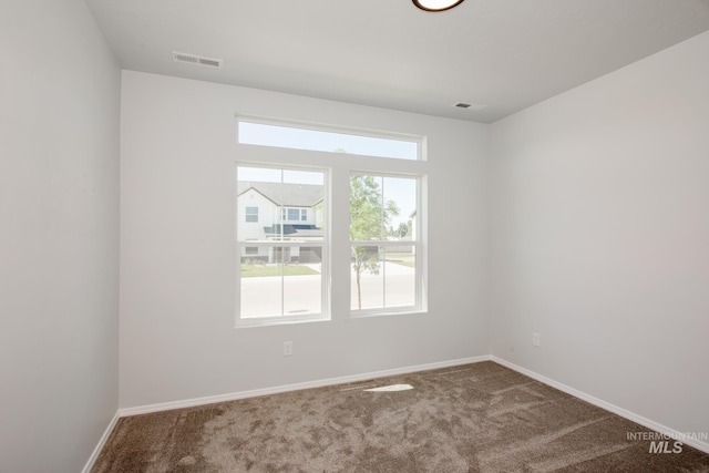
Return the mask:
[[[249,157],[236,113],[429,136],[430,313],[234,328],[234,162]],[[486,138],[484,125],[124,71],[121,407],[489,353]],[[349,307],[348,251],[336,307]]]

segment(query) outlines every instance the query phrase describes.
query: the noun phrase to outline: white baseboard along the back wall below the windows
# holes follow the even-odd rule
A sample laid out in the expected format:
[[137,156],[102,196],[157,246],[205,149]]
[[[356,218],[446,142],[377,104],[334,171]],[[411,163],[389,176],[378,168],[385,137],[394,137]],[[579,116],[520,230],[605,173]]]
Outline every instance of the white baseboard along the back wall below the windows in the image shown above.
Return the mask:
[[395,368],[391,370],[373,371],[361,374],[352,374],[339,378],[329,378],[317,381],[300,382],[295,384],[284,384],[273,388],[255,389],[251,391],[232,392],[227,394],[208,395],[205,398],[187,399],[184,401],[161,402],[157,404],[140,405],[136,408],[120,409],[120,417],[147,414],[151,412],[168,411],[172,409],[193,408],[196,405],[213,404],[215,402],[235,401],[237,399],[256,398],[259,395],[278,394],[288,391],[299,391],[301,389],[322,388],[326,385],[345,384],[348,382],[366,381],[368,379],[384,378],[397,374],[412,373],[417,371],[434,370],[439,368],[456,367],[460,364],[477,363],[481,361],[490,361],[489,354],[482,357],[463,358],[459,360],[442,361],[436,363],[419,364],[414,367]]

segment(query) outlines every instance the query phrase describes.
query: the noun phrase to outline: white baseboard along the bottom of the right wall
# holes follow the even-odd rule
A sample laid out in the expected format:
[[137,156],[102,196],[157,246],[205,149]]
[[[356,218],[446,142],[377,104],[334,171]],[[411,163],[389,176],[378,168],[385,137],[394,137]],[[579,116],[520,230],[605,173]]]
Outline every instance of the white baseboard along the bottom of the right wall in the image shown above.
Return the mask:
[[[627,411],[627,410],[625,410],[623,408],[619,408],[619,407],[617,407],[615,404],[612,404],[609,402],[603,401],[603,400],[600,400],[598,398],[594,398],[590,394],[586,394],[585,392],[578,391],[578,390],[576,390],[574,388],[571,388],[571,387],[568,387],[566,384],[563,384],[561,382],[554,381],[553,379],[546,378],[546,377],[544,377],[542,374],[538,374],[538,373],[536,373],[534,371],[527,370],[526,368],[518,367],[518,366],[516,366],[516,364],[514,364],[514,363],[512,363],[512,362],[510,362],[510,361],[507,361],[507,360],[505,360],[503,358],[491,356],[490,359],[492,361],[494,361],[495,363],[500,363],[503,367],[507,367],[507,368],[510,368],[512,370],[515,370],[515,371],[517,371],[517,372],[520,372],[522,374],[528,376],[530,378],[533,378],[533,379],[535,379],[535,380],[537,380],[540,382],[543,382],[544,384],[551,385],[552,388],[556,388],[559,391],[564,391],[567,394],[571,394],[571,395],[573,395],[575,398],[578,398],[580,400],[589,402],[589,403],[592,403],[594,405],[597,405],[597,407],[599,407],[602,409],[605,409],[606,411],[610,411],[614,414],[618,414],[621,418],[628,419],[628,420],[630,420],[633,422],[636,422],[636,423],[638,423],[640,425],[644,425],[644,426],[646,426],[648,429],[653,429],[656,432],[662,433],[662,434],[668,435],[670,438],[682,439],[682,435],[681,435],[680,432],[678,432],[678,431],[676,431],[674,429],[670,429],[670,428],[668,428],[666,425],[659,424],[659,423],[657,423],[655,421],[651,421],[651,420],[649,420],[647,418],[644,418],[643,415],[638,415],[638,414],[636,414],[634,412]],[[697,450],[701,450],[705,453],[709,453],[709,443],[707,443],[707,442],[701,442],[699,440],[691,440],[691,439],[684,439],[684,440],[681,440],[681,442],[687,444],[687,445],[693,446]]]

